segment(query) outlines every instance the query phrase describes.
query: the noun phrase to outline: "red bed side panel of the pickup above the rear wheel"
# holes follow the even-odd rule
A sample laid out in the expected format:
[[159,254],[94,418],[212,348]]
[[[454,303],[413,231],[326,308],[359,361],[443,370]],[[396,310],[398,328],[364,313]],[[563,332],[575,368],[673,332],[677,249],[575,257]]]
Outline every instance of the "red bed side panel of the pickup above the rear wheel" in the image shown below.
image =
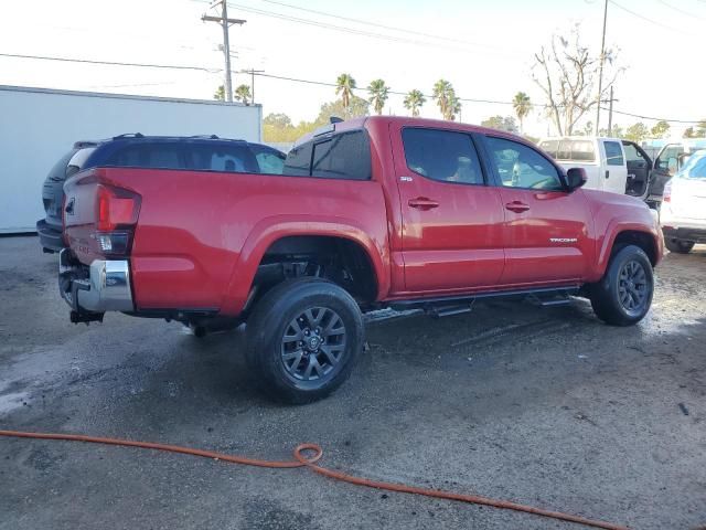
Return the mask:
[[371,255],[388,289],[386,212],[375,181],[106,169],[142,197],[132,285],[138,309],[237,315],[265,251],[288,235],[339,235]]

